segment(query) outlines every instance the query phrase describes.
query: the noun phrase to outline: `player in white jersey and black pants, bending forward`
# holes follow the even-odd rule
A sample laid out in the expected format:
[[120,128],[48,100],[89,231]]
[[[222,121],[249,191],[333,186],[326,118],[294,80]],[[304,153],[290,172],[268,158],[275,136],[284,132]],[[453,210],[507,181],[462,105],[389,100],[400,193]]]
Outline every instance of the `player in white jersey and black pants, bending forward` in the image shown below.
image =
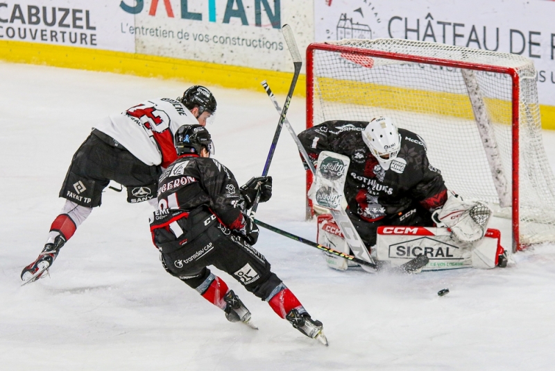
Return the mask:
[[71,160],[60,197],[66,199],[53,221],[44,249],[24,267],[26,283],[44,277],[60,248],[74,235],[92,208],[101,205],[110,180],[127,188],[131,204],[148,201],[157,208],[162,170],[177,159],[173,136],[183,125],[205,126],[214,118],[216,99],[195,85],[177,99],[151,99],[96,124]]

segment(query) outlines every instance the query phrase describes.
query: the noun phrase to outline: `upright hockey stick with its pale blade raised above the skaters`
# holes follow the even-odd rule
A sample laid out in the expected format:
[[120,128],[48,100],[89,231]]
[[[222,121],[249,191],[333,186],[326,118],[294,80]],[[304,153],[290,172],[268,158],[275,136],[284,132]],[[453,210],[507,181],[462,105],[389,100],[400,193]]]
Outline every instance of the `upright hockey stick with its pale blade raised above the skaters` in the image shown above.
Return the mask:
[[[297,85],[297,80],[300,74],[300,67],[302,66],[302,59],[300,58],[299,49],[297,47],[297,42],[295,41],[295,36],[293,35],[293,30],[289,24],[284,24],[282,27],[283,38],[287,44],[287,48],[291,53],[291,58],[293,58],[293,66],[295,71],[293,72],[293,79],[291,80],[291,85],[289,85],[289,92],[287,92],[287,98],[285,99],[285,104],[280,112],[280,121],[278,122],[278,127],[275,128],[275,133],[273,135],[272,144],[270,146],[270,152],[268,153],[268,158],[266,158],[266,163],[264,164],[264,171],[262,176],[268,175],[268,170],[270,169],[270,164],[272,162],[273,154],[275,152],[275,146],[278,145],[278,139],[280,138],[280,133],[282,131],[283,122],[285,121],[287,110],[289,110],[289,104],[291,103],[291,97],[293,97],[293,91],[295,90],[295,85]],[[260,200],[260,192],[257,192],[257,196],[253,206],[250,208],[250,216],[254,216],[258,208],[258,202]]]

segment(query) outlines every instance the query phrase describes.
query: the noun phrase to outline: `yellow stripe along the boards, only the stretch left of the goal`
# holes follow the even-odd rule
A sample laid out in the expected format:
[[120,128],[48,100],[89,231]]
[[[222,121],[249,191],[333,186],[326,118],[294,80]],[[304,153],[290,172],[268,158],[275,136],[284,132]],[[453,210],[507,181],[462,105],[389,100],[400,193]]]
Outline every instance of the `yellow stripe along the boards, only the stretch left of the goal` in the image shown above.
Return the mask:
[[[189,83],[248,89],[266,94],[260,83],[268,81],[275,94],[287,94],[293,74],[266,69],[219,65],[145,54],[60,45],[0,40],[0,60],[89,71],[176,79]],[[299,76],[295,95],[305,97],[305,76]],[[271,107],[271,105],[269,106]]]

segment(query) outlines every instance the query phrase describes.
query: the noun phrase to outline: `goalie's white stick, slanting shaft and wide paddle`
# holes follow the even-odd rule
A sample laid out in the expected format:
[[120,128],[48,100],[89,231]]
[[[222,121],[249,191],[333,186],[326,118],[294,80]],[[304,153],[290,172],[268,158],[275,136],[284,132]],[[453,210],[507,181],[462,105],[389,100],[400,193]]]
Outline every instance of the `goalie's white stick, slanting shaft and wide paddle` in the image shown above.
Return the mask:
[[[262,81],[261,84],[264,87],[264,90],[266,90],[266,94],[268,94],[268,97],[271,99],[275,109],[278,110],[278,112],[280,112],[281,111],[280,104],[275,99],[275,96],[272,90],[270,89],[270,86],[268,85],[268,83],[266,81]],[[310,160],[307,154],[307,150],[305,149],[305,147],[302,147],[302,144],[299,138],[297,137],[295,131],[293,130],[293,126],[291,126],[291,123],[289,122],[287,117],[284,117],[284,124],[285,126],[287,126],[287,130],[291,134],[291,138],[293,138],[293,140],[295,141],[300,151],[300,154],[302,155],[302,158],[305,159],[305,163],[307,163],[310,171],[312,172],[312,174],[316,175],[316,168],[314,167],[314,164]],[[376,267],[377,266],[376,262],[370,256],[370,254],[368,254],[368,249],[366,249],[366,245],[364,245],[364,242],[362,242],[359,236],[359,233],[356,231],[355,226],[352,225],[352,222],[349,219],[347,213],[345,213],[344,210],[336,211],[332,209],[330,209],[330,213],[334,217],[334,220],[337,226],[339,226],[339,229],[341,229],[341,233],[343,233],[343,236],[345,236],[345,240],[347,241],[347,244],[349,245],[350,249],[352,250],[352,252],[355,253],[355,256],[357,256],[358,258],[364,259],[364,261],[372,263]],[[345,232],[348,232],[348,233],[345,233]],[[416,261],[416,259],[417,258],[413,259],[413,261]],[[407,264],[412,263],[413,261],[410,261]],[[418,265],[418,263],[416,262],[415,264]]]

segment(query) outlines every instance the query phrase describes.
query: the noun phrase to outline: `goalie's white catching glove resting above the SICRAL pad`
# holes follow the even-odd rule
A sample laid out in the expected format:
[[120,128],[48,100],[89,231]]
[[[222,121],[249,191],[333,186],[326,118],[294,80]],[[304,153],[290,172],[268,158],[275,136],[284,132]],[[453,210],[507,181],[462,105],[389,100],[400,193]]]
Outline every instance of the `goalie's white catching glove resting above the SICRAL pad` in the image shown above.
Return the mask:
[[447,226],[462,242],[476,242],[484,238],[492,211],[480,201],[463,201],[459,195],[450,192],[449,198],[432,214],[437,226]]

